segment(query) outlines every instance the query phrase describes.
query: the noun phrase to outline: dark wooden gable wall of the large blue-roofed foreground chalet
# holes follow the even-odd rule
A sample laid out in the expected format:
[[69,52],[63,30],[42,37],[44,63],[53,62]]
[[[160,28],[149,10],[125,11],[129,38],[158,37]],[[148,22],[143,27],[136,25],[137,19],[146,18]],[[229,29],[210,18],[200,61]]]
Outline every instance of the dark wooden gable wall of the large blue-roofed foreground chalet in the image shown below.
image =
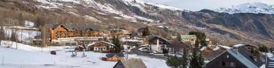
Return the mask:
[[[228,55],[228,58],[227,58]],[[223,65],[223,62],[225,63]],[[230,67],[230,62],[233,62],[234,67]],[[219,57],[213,59],[205,65],[205,68],[247,68],[244,64],[234,58],[230,53],[225,52]]]

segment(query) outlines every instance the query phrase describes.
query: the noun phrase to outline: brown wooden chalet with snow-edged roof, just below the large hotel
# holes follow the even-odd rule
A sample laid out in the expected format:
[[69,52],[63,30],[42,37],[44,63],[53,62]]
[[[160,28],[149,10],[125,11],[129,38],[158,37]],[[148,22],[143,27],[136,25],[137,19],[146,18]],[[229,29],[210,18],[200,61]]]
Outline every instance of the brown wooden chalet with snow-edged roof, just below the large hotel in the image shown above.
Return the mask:
[[101,40],[88,45],[89,51],[111,51],[114,47],[114,44]]

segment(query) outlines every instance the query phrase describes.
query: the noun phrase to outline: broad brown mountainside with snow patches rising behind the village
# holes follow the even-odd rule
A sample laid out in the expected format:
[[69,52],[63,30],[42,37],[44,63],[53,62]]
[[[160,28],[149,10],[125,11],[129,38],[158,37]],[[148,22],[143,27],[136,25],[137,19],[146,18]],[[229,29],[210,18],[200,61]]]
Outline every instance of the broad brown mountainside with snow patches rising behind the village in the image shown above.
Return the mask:
[[[273,44],[273,17],[268,14],[239,13],[230,15],[203,10],[192,12],[143,0],[1,0],[0,16],[44,23],[93,24],[101,29],[127,30],[150,26],[152,33],[165,37],[203,31],[223,45],[248,43]],[[12,13],[10,13],[12,12]],[[14,14],[9,17],[6,13]],[[16,25],[16,24],[15,24]]]

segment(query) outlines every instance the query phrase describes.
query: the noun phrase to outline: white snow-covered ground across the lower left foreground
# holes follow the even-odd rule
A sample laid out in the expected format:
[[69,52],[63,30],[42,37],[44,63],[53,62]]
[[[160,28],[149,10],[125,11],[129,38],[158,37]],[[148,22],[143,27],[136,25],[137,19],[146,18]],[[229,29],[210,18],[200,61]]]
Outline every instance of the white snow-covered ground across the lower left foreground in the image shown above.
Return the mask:
[[[6,44],[12,43],[2,41]],[[105,57],[106,53],[86,51],[87,57],[82,58],[82,52],[77,52],[77,57],[70,57],[70,51],[66,47],[38,48],[29,45],[17,44],[18,50],[0,47],[0,57],[4,56],[4,66],[0,68],[112,68],[117,62],[102,61],[99,58]],[[1,46],[4,46],[2,44]],[[13,43],[13,47],[16,44]],[[57,55],[51,55],[48,51],[56,51]],[[41,52],[43,51],[43,52]],[[129,59],[141,58],[148,68],[168,68],[164,60],[129,54]]]

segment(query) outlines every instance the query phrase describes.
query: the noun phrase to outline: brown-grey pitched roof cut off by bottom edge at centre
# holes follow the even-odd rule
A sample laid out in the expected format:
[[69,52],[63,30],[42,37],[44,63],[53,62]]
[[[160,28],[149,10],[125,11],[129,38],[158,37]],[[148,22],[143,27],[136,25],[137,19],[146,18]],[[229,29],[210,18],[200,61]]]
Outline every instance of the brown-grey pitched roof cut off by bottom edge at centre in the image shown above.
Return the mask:
[[123,64],[124,68],[147,68],[144,62],[142,61],[142,59],[124,59],[124,60],[118,61],[116,65],[119,62]]

